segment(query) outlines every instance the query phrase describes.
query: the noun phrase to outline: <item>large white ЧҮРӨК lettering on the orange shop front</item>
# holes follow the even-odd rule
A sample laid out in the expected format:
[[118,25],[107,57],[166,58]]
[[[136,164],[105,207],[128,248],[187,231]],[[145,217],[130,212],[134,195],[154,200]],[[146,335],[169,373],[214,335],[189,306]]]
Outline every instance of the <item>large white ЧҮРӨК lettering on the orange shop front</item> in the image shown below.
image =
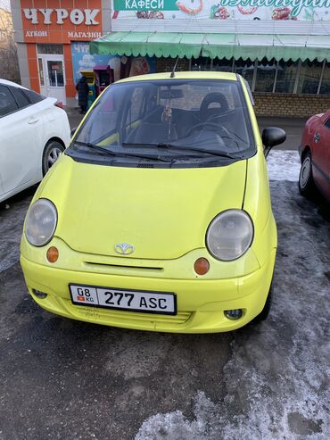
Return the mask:
[[96,20],[99,9],[72,9],[70,12],[67,9],[23,9],[24,16],[32,24],[63,24],[64,21],[69,20],[74,25],[80,25],[85,23],[87,26],[98,25],[99,21]]

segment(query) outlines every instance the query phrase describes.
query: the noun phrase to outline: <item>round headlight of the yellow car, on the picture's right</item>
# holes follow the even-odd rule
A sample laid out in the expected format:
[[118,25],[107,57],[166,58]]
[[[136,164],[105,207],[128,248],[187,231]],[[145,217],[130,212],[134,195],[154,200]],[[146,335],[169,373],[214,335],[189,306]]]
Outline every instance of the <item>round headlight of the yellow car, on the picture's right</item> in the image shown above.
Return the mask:
[[231,262],[245,253],[253,239],[250,216],[242,210],[221,212],[210,222],[206,245],[217,260]]

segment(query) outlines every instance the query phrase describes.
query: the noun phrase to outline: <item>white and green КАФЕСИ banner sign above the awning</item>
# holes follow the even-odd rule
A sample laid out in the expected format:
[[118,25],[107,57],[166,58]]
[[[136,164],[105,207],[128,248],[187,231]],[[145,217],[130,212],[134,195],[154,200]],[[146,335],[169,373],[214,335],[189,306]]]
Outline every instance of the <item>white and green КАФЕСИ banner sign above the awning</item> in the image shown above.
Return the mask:
[[113,0],[112,20],[329,21],[329,0]]

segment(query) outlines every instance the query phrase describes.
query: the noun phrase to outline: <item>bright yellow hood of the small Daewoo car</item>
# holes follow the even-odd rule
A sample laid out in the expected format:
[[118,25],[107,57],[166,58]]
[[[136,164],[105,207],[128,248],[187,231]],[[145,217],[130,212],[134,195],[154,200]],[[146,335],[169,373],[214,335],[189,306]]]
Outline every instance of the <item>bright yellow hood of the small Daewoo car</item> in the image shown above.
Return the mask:
[[210,221],[242,208],[246,160],[200,169],[141,169],[74,162],[62,155],[39,196],[58,210],[55,236],[76,251],[175,259],[205,246]]

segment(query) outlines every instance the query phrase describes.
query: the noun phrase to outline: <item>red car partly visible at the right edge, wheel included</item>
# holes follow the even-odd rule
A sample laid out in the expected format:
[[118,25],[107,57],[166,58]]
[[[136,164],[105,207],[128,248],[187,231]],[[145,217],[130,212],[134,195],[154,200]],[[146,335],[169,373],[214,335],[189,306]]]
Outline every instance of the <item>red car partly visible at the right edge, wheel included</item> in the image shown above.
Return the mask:
[[330,110],[306,122],[301,145],[299,190],[310,197],[315,187],[330,201]]

